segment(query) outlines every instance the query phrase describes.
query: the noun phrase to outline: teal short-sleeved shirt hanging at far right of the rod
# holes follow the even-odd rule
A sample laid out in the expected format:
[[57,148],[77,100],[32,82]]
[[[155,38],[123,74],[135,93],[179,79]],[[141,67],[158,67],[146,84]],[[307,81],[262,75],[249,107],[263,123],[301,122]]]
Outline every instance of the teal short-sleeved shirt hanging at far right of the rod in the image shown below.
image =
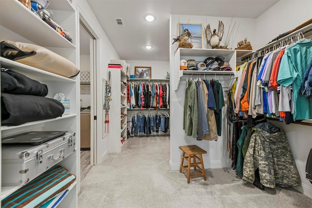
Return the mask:
[[[292,84],[293,120],[312,118],[312,101],[299,95],[303,75],[312,57],[312,39],[298,41],[285,50],[279,66],[277,83],[287,87]],[[309,107],[308,107],[309,106]]]

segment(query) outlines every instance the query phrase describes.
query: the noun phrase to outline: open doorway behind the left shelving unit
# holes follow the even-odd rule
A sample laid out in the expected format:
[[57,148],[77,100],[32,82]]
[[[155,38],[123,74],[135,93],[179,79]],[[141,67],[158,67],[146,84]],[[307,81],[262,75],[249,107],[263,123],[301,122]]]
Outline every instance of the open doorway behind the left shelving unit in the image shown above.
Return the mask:
[[88,30],[82,19],[79,19],[79,45],[80,45],[80,181],[86,176],[94,165],[94,137],[97,125],[96,115],[96,54],[94,42],[96,38]]

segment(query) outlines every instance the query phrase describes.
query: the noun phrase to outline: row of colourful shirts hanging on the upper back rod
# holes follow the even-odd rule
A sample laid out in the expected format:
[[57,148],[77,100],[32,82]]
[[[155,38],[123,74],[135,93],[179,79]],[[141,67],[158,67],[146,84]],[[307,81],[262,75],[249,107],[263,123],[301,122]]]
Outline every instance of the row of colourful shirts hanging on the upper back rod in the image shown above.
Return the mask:
[[127,83],[127,107],[140,108],[166,108],[169,109],[168,83]]

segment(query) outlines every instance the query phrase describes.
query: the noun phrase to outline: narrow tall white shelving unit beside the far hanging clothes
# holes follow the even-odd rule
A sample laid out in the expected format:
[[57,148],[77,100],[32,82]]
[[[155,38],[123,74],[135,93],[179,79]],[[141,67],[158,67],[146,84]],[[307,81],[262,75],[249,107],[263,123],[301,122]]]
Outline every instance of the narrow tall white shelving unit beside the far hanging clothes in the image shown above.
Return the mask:
[[109,114],[114,116],[110,116],[109,119],[108,151],[113,153],[121,152],[121,147],[124,144],[121,142],[122,137],[127,141],[127,116],[121,117],[121,113],[127,114],[127,86],[121,81],[127,83],[128,76],[120,69],[109,69],[109,71],[111,80],[114,80],[111,86],[112,101]]

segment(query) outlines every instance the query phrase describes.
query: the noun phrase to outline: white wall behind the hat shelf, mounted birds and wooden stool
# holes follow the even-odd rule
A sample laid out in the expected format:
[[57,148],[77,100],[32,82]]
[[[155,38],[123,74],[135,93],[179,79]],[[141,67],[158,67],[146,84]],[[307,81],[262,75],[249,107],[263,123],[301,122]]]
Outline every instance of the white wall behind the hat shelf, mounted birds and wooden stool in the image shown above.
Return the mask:
[[[231,18],[226,17],[204,17],[204,16],[186,16],[186,15],[172,15],[170,20],[171,30],[170,37],[176,36],[178,34],[178,22],[186,23],[190,19],[189,23],[203,23],[203,26],[206,27],[210,23],[210,27],[213,30],[217,28],[218,21],[222,20],[225,24],[224,36],[227,34]],[[232,22],[236,21],[236,25],[239,25],[236,37],[234,39],[233,48],[236,47],[236,44],[239,40],[244,39],[245,37],[248,40],[253,42],[255,41],[255,21],[256,19],[251,18],[234,18]],[[170,40],[171,41],[171,40]],[[172,45],[172,43],[169,43]],[[170,48],[170,75],[171,80],[174,79],[174,54],[176,52],[177,44],[175,43]],[[227,152],[227,137],[226,137],[226,117],[225,112],[226,108],[222,110],[223,122],[222,122],[222,133],[221,136],[218,136],[217,141],[197,141],[191,136],[187,136],[183,130],[183,108],[184,108],[184,97],[185,97],[185,88],[186,88],[186,78],[181,77],[180,85],[177,91],[174,91],[173,87],[170,89],[170,165],[172,170],[179,170],[181,162],[181,150],[179,146],[183,145],[197,145],[208,153],[203,155],[203,161],[205,168],[223,168],[231,167],[232,161],[229,159],[229,152]],[[225,86],[225,84],[223,84]],[[226,96],[226,93],[224,92]],[[225,102],[226,103],[226,102]]]

